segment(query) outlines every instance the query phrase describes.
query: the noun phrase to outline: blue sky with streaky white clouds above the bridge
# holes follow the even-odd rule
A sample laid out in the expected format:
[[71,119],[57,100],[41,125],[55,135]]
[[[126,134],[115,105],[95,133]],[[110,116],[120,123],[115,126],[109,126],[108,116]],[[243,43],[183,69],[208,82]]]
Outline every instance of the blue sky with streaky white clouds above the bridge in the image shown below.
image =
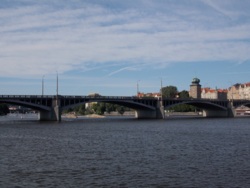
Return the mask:
[[1,0],[0,95],[250,82],[249,0]]

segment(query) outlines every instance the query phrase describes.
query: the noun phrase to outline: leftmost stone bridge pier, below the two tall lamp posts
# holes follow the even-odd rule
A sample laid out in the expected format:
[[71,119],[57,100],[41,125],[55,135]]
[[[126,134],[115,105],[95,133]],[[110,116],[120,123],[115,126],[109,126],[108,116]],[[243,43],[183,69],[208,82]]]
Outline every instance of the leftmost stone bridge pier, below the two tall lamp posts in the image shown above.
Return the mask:
[[54,99],[52,105],[50,111],[39,112],[40,121],[61,121],[60,100]]

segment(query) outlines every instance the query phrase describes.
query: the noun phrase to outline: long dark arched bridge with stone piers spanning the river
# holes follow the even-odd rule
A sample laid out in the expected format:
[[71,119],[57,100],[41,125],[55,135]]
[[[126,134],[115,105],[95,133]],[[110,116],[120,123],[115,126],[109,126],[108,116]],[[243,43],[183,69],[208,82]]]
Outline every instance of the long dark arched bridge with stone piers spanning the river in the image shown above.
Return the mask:
[[61,121],[62,111],[80,104],[105,102],[135,110],[136,118],[161,119],[164,110],[179,104],[193,105],[203,110],[205,117],[234,117],[235,108],[250,107],[250,100],[170,99],[122,96],[63,96],[63,95],[0,95],[0,103],[13,104],[39,112],[41,121]]

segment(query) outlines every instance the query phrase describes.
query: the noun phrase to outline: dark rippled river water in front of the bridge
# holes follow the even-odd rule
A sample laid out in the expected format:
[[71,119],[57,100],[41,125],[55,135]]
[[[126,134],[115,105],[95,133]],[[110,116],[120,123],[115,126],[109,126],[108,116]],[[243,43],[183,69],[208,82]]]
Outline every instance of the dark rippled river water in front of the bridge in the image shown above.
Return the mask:
[[0,187],[250,187],[250,118],[0,117]]

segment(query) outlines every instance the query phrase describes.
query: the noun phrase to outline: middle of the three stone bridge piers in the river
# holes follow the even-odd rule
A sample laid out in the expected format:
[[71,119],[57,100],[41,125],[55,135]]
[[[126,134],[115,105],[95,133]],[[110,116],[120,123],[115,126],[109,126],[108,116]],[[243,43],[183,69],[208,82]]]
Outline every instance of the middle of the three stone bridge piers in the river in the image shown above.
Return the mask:
[[138,119],[164,119],[164,107],[158,102],[155,110],[136,110],[135,117]]

